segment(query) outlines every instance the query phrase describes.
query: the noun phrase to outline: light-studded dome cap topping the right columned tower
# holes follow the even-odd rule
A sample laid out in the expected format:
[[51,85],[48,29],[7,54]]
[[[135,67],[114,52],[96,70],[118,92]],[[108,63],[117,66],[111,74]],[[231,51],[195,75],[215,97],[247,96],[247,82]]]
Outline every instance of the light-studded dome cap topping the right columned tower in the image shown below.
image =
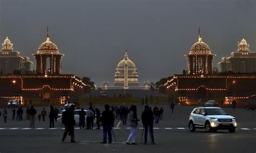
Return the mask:
[[190,54],[212,54],[210,47],[199,37],[199,41],[194,43],[190,49]]

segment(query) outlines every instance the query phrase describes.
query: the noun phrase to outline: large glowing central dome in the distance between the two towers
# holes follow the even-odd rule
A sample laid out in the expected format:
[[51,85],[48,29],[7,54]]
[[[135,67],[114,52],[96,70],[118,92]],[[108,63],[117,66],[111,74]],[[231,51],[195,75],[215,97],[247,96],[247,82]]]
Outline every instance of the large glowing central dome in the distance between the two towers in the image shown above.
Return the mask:
[[114,86],[123,86],[125,89],[129,86],[139,86],[137,68],[128,57],[128,50],[125,50],[124,59],[121,60],[114,73]]

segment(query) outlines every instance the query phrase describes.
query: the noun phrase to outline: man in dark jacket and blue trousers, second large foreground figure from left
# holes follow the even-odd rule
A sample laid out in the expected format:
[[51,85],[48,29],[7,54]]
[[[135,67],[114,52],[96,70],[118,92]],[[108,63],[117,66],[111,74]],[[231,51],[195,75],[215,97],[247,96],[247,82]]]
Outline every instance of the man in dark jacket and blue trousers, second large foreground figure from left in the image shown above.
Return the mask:
[[105,105],[105,111],[102,112],[102,122],[103,122],[103,142],[106,142],[106,135],[109,135],[109,143],[112,143],[112,122],[114,120],[113,113],[109,110],[109,105]]

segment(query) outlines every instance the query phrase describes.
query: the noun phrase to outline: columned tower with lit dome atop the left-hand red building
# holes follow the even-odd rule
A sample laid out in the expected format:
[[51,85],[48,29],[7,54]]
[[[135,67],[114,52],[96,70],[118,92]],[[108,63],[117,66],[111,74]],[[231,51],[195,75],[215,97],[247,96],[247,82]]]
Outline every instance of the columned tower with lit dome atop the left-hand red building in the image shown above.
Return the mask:
[[37,53],[33,56],[36,59],[37,74],[61,74],[64,54],[60,54],[58,47],[50,41],[49,33],[46,41],[39,46]]

